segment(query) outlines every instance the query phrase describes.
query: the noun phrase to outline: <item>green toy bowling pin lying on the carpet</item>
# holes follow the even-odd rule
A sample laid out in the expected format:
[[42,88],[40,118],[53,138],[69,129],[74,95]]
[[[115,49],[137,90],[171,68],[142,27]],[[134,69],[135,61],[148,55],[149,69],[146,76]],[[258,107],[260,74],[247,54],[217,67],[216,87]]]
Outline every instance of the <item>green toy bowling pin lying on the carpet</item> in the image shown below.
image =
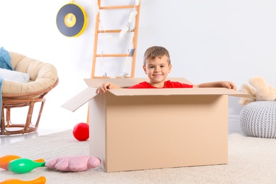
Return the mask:
[[16,159],[8,163],[8,171],[13,173],[28,173],[34,168],[45,166],[45,162],[36,162],[31,159]]

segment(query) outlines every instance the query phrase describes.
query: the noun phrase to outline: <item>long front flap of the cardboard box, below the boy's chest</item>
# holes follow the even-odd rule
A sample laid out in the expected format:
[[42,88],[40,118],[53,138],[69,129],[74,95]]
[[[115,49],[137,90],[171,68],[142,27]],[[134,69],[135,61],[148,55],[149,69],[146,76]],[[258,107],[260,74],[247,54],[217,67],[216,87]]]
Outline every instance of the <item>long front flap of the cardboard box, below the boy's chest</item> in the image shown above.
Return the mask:
[[143,88],[143,89],[112,89],[115,96],[176,96],[176,95],[229,95],[251,98],[246,93],[228,88]]

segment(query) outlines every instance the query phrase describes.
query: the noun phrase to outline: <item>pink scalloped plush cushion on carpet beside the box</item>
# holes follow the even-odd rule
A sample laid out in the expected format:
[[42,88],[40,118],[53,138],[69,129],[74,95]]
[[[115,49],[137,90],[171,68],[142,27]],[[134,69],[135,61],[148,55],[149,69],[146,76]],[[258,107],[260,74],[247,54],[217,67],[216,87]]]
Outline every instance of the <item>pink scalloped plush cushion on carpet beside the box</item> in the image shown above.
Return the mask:
[[47,168],[55,168],[59,171],[86,171],[100,166],[100,159],[95,156],[60,156],[46,161]]

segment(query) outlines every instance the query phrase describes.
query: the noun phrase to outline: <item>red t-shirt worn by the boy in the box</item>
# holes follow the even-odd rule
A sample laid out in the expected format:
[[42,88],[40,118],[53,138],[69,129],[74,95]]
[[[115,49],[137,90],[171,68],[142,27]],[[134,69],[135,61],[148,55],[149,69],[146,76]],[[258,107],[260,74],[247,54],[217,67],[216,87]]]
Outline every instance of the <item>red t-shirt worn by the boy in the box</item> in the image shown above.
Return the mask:
[[[148,82],[141,82],[129,88],[156,88],[151,86]],[[192,88],[191,84],[182,84],[180,82],[165,81],[163,88]]]

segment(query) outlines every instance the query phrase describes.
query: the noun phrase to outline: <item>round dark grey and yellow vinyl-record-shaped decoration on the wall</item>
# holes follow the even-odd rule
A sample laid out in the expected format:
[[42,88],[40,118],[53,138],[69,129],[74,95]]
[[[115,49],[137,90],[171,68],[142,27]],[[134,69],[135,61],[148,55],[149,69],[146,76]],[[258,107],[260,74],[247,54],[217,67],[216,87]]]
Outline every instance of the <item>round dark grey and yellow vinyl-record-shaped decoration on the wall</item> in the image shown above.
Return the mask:
[[62,35],[77,37],[84,32],[87,18],[84,8],[81,8],[74,1],[65,4],[57,13],[57,28]]

